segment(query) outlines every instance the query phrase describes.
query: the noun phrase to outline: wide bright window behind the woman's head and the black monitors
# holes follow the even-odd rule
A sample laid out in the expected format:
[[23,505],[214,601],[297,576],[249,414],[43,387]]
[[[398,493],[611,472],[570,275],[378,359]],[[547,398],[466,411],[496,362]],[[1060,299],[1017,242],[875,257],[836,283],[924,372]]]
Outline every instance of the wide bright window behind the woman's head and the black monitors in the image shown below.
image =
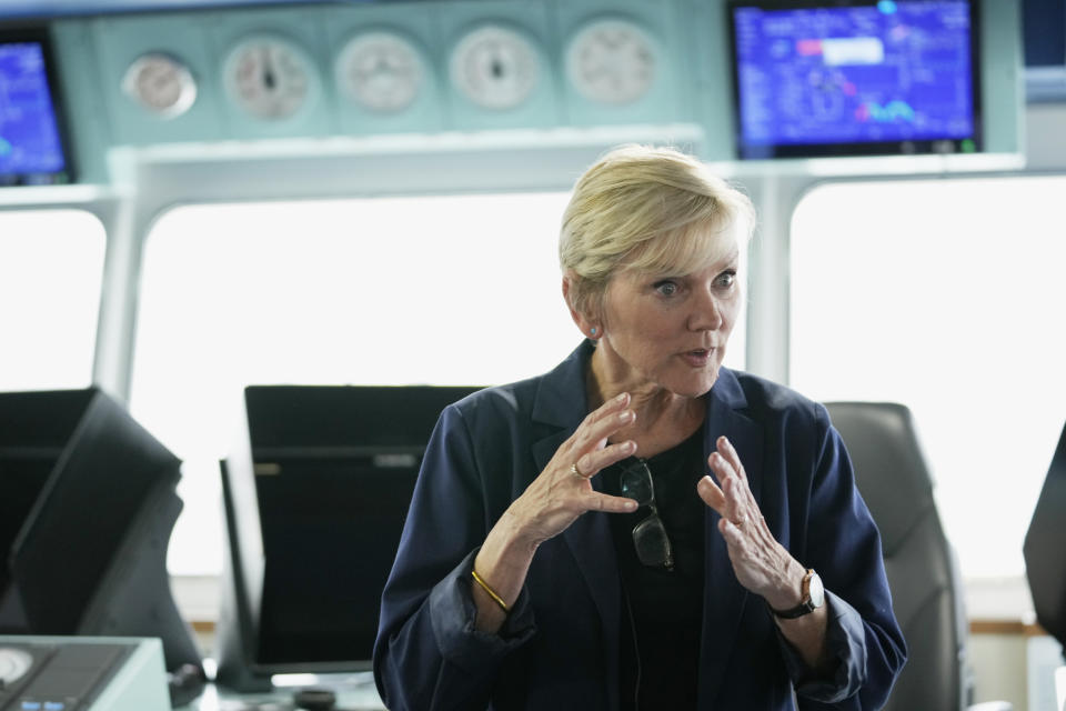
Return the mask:
[[495,384],[565,358],[581,340],[556,256],[567,197],[163,216],[145,246],[131,410],[185,462],[171,572],[221,567],[217,462],[245,384]]

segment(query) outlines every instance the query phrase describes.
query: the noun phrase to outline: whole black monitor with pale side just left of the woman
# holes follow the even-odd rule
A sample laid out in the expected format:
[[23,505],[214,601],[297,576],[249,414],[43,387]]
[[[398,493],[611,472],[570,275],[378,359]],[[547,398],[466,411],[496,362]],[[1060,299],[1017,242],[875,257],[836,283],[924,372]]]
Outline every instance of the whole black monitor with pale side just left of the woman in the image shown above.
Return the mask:
[[425,445],[460,387],[253,385],[224,462],[218,683],[371,668]]

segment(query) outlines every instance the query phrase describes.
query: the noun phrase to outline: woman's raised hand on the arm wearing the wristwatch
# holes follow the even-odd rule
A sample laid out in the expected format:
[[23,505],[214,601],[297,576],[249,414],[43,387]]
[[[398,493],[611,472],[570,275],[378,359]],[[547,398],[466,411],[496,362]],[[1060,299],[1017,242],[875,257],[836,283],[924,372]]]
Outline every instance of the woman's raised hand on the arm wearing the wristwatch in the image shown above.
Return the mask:
[[733,444],[724,437],[717,451],[707,458],[718,483],[710,475],[696,490],[704,502],[721,514],[718,530],[725,539],[733,572],[742,585],[762,595],[775,610],[800,603],[803,565],[770,532],[747,485],[747,474]]

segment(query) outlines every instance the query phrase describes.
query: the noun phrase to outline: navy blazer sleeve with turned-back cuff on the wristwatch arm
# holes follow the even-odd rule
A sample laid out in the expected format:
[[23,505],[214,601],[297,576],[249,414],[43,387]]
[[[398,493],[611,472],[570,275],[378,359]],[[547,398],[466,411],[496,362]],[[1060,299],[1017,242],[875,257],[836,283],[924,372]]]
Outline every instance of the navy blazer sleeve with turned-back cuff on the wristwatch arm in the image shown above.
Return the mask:
[[802,711],[879,709],[906,661],[906,643],[892,610],[881,534],[821,404],[815,425],[821,444],[801,562],[818,571],[826,588],[831,671],[812,674],[780,633],[778,639]]

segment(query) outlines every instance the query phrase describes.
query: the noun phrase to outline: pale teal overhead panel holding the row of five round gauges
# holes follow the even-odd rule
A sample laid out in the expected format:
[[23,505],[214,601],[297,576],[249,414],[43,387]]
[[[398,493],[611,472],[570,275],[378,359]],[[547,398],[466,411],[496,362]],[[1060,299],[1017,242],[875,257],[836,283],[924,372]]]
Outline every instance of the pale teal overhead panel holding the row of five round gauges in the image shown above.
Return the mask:
[[[980,3],[982,152],[1016,166],[1016,7]],[[180,162],[635,140],[737,158],[725,0],[301,2],[49,29],[82,182],[121,182],[141,148]]]

